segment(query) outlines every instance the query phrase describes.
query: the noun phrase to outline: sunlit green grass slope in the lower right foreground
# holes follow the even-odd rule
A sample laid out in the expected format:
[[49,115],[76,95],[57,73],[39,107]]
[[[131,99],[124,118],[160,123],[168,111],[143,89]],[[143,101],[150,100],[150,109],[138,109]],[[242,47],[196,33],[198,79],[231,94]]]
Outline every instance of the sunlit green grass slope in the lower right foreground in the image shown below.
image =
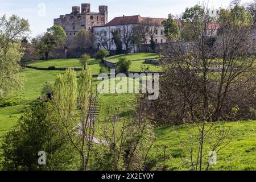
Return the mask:
[[[216,128],[220,123],[216,124]],[[217,164],[211,166],[211,170],[256,170],[256,121],[241,121],[226,123],[230,129],[230,143],[217,154]],[[169,170],[187,170],[183,165],[185,159],[189,160],[189,154],[181,146],[189,140],[185,126],[161,127],[156,129],[156,143],[153,153],[160,156],[159,163],[163,164],[164,146],[168,145],[167,165]],[[232,139],[231,139],[232,138]],[[182,159],[182,160],[181,160]]]

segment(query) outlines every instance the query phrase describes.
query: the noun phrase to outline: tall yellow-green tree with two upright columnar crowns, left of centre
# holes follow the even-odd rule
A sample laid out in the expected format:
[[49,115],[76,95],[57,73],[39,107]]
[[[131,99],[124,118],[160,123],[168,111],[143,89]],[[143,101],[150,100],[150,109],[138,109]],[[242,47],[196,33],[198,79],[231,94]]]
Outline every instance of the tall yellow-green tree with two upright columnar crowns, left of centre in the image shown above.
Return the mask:
[[[92,75],[86,66],[82,68],[78,80],[75,71],[68,69],[64,75],[58,75],[53,88],[53,105],[60,118],[55,123],[57,131],[67,138],[79,154],[80,169],[88,169],[94,138],[96,115],[94,109],[98,94],[92,93]],[[76,109],[81,110],[77,115]]]

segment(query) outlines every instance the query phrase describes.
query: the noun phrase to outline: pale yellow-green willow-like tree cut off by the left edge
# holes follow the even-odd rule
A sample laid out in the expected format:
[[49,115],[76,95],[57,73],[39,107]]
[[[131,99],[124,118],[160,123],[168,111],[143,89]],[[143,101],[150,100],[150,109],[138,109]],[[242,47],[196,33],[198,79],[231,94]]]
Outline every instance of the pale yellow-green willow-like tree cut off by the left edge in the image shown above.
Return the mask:
[[19,63],[24,55],[20,40],[27,35],[29,23],[19,16],[0,18],[0,96],[21,88],[23,77],[18,75]]

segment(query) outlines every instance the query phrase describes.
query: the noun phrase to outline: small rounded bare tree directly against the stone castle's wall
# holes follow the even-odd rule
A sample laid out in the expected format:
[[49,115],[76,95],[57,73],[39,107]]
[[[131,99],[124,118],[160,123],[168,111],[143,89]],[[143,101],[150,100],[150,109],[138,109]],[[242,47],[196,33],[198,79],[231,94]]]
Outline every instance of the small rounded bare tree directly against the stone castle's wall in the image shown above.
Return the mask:
[[75,42],[81,49],[91,47],[90,34],[85,29],[79,30],[75,36]]

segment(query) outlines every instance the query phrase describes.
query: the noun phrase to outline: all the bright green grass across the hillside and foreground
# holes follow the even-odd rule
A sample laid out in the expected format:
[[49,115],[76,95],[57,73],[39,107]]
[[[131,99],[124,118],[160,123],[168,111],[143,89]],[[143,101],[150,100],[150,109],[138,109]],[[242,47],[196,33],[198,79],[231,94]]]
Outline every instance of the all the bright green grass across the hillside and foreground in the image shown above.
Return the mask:
[[[117,61],[118,57],[124,55],[108,57],[109,60]],[[154,58],[156,54],[139,53],[130,54],[126,57],[133,60],[130,71],[140,71],[141,65],[144,64],[144,59]],[[56,68],[75,68],[81,67],[78,59],[69,60],[49,60],[49,61],[35,61],[30,63],[36,67],[55,66]],[[100,61],[91,59],[89,67],[93,74],[100,72]],[[155,65],[149,65],[152,71],[157,71],[160,68]],[[55,77],[61,71],[36,71],[35,69],[23,69],[21,72],[26,76],[26,82],[22,90],[16,90],[13,94],[8,96],[11,100],[18,100],[20,103],[13,106],[0,107],[0,137],[13,129],[18,118],[31,102],[37,100],[45,82],[54,82]],[[79,74],[79,72],[77,72]],[[97,84],[97,80],[93,80],[93,85]],[[135,109],[136,101],[134,94],[100,94],[100,119],[104,118],[105,109],[110,107],[121,107],[119,116],[121,119],[128,118]],[[218,158],[223,159],[212,166],[214,170],[256,170],[256,121],[241,121],[228,123],[233,135],[230,144],[218,154]],[[186,128],[184,126],[170,126],[161,127],[155,130],[157,140],[154,144],[152,154],[158,156],[158,163],[162,163],[164,145],[170,146],[167,149],[167,154],[170,159],[167,160],[168,169],[170,170],[184,170],[181,159],[185,159],[187,155],[180,146],[180,139],[177,133],[184,140],[188,140],[186,135]]]

